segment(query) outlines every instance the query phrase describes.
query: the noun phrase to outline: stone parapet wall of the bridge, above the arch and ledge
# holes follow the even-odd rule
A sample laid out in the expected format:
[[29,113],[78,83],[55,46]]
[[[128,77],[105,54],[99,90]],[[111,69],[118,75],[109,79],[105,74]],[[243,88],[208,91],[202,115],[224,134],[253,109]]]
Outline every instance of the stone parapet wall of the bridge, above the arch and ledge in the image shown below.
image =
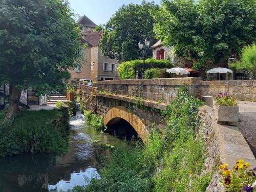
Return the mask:
[[200,77],[99,81],[98,91],[168,103],[182,86],[188,86],[191,95],[202,97]]

